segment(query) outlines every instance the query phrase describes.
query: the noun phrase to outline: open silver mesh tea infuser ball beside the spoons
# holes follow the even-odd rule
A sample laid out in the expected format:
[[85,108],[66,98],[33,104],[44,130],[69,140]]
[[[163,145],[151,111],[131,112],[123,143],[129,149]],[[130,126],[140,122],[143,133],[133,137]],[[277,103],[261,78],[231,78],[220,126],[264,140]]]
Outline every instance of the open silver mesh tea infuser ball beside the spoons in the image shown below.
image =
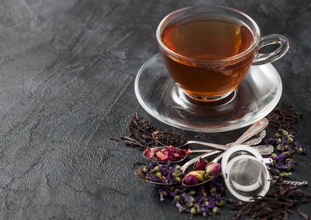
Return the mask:
[[221,162],[229,192],[244,202],[264,197],[270,188],[270,174],[266,164],[271,162],[271,158],[263,158],[252,147],[231,147]]

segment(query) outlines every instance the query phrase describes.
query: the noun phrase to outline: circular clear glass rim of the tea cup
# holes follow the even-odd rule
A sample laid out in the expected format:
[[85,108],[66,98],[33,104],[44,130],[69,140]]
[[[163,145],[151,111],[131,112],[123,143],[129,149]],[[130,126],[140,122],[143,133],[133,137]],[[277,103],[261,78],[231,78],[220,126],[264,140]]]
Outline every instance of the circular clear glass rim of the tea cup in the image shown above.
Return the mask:
[[[218,60],[193,59],[193,58],[182,56],[182,55],[177,54],[174,51],[170,50],[168,47],[166,47],[166,45],[162,42],[162,39],[161,39],[161,35],[162,35],[163,30],[168,26],[167,20],[179,12],[182,12],[185,10],[190,10],[192,8],[199,8],[199,7],[200,8],[203,8],[203,7],[222,8],[224,10],[232,11],[232,12],[237,13],[237,14],[241,15],[242,17],[244,17],[252,25],[250,27],[250,26],[246,25],[244,22],[242,22],[251,30],[251,32],[253,34],[253,43],[246,50],[244,50],[243,52],[241,52],[239,54],[236,54],[232,57],[228,57],[228,58],[224,58],[224,59],[218,59]],[[215,15],[217,15],[217,14],[215,13]],[[169,24],[173,24],[175,21],[178,21],[178,20],[177,19],[173,20],[172,22],[169,22]],[[244,56],[247,56],[249,53],[251,53],[253,51],[253,49],[255,47],[258,46],[258,43],[260,40],[260,29],[259,29],[259,26],[257,25],[257,23],[250,16],[248,16],[247,14],[245,14],[242,11],[239,11],[235,8],[227,7],[227,6],[221,6],[221,5],[215,5],[215,4],[200,4],[200,5],[192,5],[192,6],[188,6],[188,7],[183,7],[183,8],[177,9],[177,10],[169,13],[168,15],[166,15],[160,21],[160,23],[158,24],[158,26],[156,28],[156,40],[157,40],[160,48],[163,49],[164,52],[166,52],[167,54],[169,54],[173,57],[176,57],[180,60],[188,60],[191,63],[202,64],[202,65],[213,65],[213,64],[217,64],[217,65],[224,64],[224,65],[226,65],[227,62],[232,62],[234,60],[237,60],[236,62],[239,62],[240,60],[243,60]]]

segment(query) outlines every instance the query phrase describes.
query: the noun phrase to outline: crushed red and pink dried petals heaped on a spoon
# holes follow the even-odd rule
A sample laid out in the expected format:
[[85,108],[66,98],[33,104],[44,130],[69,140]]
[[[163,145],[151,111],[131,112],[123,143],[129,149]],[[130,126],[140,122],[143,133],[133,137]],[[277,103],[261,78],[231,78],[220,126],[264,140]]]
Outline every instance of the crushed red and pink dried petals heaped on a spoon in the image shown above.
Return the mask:
[[145,149],[146,156],[149,159],[157,160],[157,161],[177,161],[185,158],[189,154],[190,149],[178,149],[173,146],[169,146],[166,148],[155,148],[151,149],[147,147]]

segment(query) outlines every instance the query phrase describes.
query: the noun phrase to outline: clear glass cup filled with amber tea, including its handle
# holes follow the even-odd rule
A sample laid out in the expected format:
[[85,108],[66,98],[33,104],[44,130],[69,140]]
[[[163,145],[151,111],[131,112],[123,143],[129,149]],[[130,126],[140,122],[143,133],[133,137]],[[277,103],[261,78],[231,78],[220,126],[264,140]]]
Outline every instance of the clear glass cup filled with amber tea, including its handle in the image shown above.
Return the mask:
[[[194,5],[162,19],[156,39],[165,67],[179,88],[198,101],[229,96],[249,68],[278,60],[289,49],[280,34],[260,37],[256,22],[245,13],[219,5]],[[258,51],[271,44],[270,53]]]

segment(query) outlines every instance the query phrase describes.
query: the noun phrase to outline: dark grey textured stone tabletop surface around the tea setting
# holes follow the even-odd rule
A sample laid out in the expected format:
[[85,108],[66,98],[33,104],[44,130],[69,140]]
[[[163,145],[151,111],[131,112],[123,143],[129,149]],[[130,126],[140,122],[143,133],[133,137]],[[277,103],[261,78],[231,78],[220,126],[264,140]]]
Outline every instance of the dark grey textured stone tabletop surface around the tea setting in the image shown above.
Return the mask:
[[[273,65],[283,81],[280,103],[304,114],[296,140],[309,154],[297,156],[292,179],[311,182],[309,0],[0,0],[0,219],[189,219],[135,177],[142,152],[110,138],[128,135],[136,111],[190,139],[225,144],[245,131],[170,128],[135,97],[136,73],[158,52],[159,21],[200,3],[235,7],[262,35],[289,38],[289,52]],[[300,207],[311,217],[310,204]],[[224,207],[211,219],[233,214]]]

